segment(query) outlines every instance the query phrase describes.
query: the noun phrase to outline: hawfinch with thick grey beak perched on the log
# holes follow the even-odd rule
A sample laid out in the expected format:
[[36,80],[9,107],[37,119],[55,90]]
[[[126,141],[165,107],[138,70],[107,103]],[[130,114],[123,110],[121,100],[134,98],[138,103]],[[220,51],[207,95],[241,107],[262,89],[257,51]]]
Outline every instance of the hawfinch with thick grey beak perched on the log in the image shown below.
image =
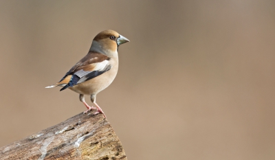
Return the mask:
[[[96,104],[96,95],[109,87],[118,73],[118,47],[130,42],[126,37],[113,30],[104,30],[97,34],[86,56],[80,59],[56,84],[45,88],[62,87],[60,91],[71,89],[79,93],[79,100],[87,107],[87,113],[96,110],[94,115],[106,115]],[[84,95],[90,95],[94,106],[85,102]]]

